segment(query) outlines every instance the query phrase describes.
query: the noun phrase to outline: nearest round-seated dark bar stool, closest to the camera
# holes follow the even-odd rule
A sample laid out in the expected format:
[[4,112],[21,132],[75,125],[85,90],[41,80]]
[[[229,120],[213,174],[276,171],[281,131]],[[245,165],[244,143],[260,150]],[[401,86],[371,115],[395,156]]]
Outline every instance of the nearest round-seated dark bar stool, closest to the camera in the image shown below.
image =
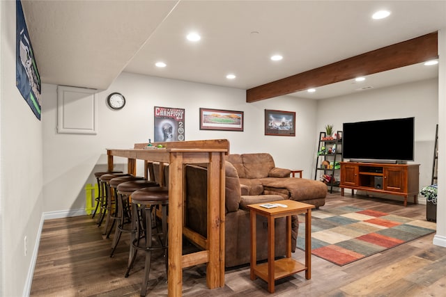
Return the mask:
[[[169,204],[169,188],[168,187],[151,187],[141,188],[132,193],[132,239],[130,244],[129,264],[125,272],[125,278],[128,277],[130,269],[134,264],[134,259],[137,255],[137,250],[144,250],[146,252],[146,262],[144,264],[144,278],[141,284],[141,296],[146,296],[148,275],[151,268],[151,252],[153,250],[164,250],[164,261],[166,265],[166,273],[168,269],[167,263],[167,206]],[[152,233],[152,211],[156,206],[161,207],[161,225],[162,231]],[[141,213],[141,217],[139,216]],[[141,218],[145,218],[144,230],[141,230]],[[156,216],[155,216],[156,220]],[[160,245],[154,245],[152,236],[157,235],[160,239]],[[162,238],[164,237],[164,238]],[[140,240],[145,239],[144,245]]]

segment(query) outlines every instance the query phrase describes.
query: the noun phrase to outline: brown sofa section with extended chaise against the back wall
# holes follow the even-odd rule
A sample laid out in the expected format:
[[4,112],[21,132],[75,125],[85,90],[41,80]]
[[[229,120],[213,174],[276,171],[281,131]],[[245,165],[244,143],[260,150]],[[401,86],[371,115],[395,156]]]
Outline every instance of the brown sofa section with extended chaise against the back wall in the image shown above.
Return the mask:
[[229,154],[226,161],[236,168],[240,184],[247,186],[249,195],[282,195],[316,208],[325,204],[327,186],[323,182],[290,177],[291,170],[275,167],[268,153]]

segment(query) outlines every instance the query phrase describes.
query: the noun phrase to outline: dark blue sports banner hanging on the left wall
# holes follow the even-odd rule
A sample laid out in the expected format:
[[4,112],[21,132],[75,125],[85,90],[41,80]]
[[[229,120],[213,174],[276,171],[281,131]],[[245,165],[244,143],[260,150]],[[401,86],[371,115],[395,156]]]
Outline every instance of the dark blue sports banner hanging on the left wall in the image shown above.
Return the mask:
[[40,120],[40,113],[42,113],[40,109],[40,76],[26,28],[22,2],[17,0],[15,3],[15,83],[26,103]]

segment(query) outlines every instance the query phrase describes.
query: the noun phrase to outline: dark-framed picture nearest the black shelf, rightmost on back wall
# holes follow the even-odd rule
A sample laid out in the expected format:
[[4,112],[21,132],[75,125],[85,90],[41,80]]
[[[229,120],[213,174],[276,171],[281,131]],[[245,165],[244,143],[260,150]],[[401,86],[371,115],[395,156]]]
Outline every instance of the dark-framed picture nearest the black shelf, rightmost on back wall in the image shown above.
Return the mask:
[[265,109],[265,135],[295,136],[295,112]]

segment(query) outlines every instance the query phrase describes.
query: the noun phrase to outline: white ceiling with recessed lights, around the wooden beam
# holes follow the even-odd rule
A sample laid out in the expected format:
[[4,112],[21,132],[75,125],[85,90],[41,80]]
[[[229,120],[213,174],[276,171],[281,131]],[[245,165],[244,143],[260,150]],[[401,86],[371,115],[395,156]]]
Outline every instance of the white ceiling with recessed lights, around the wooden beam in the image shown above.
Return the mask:
[[[22,6],[42,82],[98,90],[123,71],[249,89],[446,29],[446,0],[22,0]],[[392,14],[371,19],[379,9]],[[187,41],[190,31],[201,40]],[[284,59],[270,61],[272,54]],[[157,61],[167,67],[155,67]],[[229,73],[236,79],[226,79]],[[414,65],[295,95],[334,97],[437,73],[437,66]]]

